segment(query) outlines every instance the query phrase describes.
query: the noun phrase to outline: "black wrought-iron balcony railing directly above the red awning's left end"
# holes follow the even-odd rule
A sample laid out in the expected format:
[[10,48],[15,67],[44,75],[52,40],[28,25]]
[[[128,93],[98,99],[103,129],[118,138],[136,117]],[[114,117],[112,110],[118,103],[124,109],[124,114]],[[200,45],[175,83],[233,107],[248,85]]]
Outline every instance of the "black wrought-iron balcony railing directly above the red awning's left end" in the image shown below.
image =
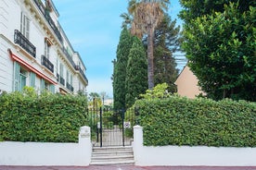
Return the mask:
[[19,30],[14,30],[14,42],[35,58],[36,48]]

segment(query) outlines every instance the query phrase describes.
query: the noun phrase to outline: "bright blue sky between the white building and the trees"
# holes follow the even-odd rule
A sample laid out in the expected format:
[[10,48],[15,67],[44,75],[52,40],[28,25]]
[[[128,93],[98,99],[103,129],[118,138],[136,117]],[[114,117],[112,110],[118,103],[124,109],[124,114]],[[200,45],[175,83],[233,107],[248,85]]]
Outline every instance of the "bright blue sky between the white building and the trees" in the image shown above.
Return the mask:
[[[112,60],[120,38],[127,0],[53,0],[59,23],[87,68],[87,92],[107,92],[112,97]],[[79,2],[79,3],[78,3]],[[170,6],[172,18],[181,9],[178,0]],[[181,22],[178,21],[180,24]]]

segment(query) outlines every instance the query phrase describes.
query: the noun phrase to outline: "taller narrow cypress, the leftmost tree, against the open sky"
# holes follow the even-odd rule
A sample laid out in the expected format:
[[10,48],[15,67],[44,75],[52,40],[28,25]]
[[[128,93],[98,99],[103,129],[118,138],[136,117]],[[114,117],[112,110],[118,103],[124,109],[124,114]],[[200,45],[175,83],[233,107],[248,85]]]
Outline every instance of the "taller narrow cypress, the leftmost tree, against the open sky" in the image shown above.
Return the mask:
[[123,28],[120,36],[120,42],[117,48],[117,59],[114,63],[113,73],[113,97],[114,109],[125,108],[125,79],[128,55],[132,47],[132,36],[127,28]]

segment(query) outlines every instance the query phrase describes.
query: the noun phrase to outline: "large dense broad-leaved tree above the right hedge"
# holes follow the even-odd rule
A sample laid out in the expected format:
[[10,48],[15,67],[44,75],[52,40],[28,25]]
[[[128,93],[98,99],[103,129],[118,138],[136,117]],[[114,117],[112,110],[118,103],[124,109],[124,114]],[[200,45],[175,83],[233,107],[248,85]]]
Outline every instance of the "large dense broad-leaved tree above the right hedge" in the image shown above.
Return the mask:
[[255,1],[181,2],[183,47],[201,89],[215,100],[256,101]]

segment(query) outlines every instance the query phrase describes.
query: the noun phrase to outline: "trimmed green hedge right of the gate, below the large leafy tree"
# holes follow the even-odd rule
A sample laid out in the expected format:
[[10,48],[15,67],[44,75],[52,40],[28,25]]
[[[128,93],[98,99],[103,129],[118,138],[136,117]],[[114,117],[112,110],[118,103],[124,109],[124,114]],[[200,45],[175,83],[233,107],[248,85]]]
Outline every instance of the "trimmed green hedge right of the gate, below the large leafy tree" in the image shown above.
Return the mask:
[[139,100],[144,145],[256,147],[256,103],[181,97]]

